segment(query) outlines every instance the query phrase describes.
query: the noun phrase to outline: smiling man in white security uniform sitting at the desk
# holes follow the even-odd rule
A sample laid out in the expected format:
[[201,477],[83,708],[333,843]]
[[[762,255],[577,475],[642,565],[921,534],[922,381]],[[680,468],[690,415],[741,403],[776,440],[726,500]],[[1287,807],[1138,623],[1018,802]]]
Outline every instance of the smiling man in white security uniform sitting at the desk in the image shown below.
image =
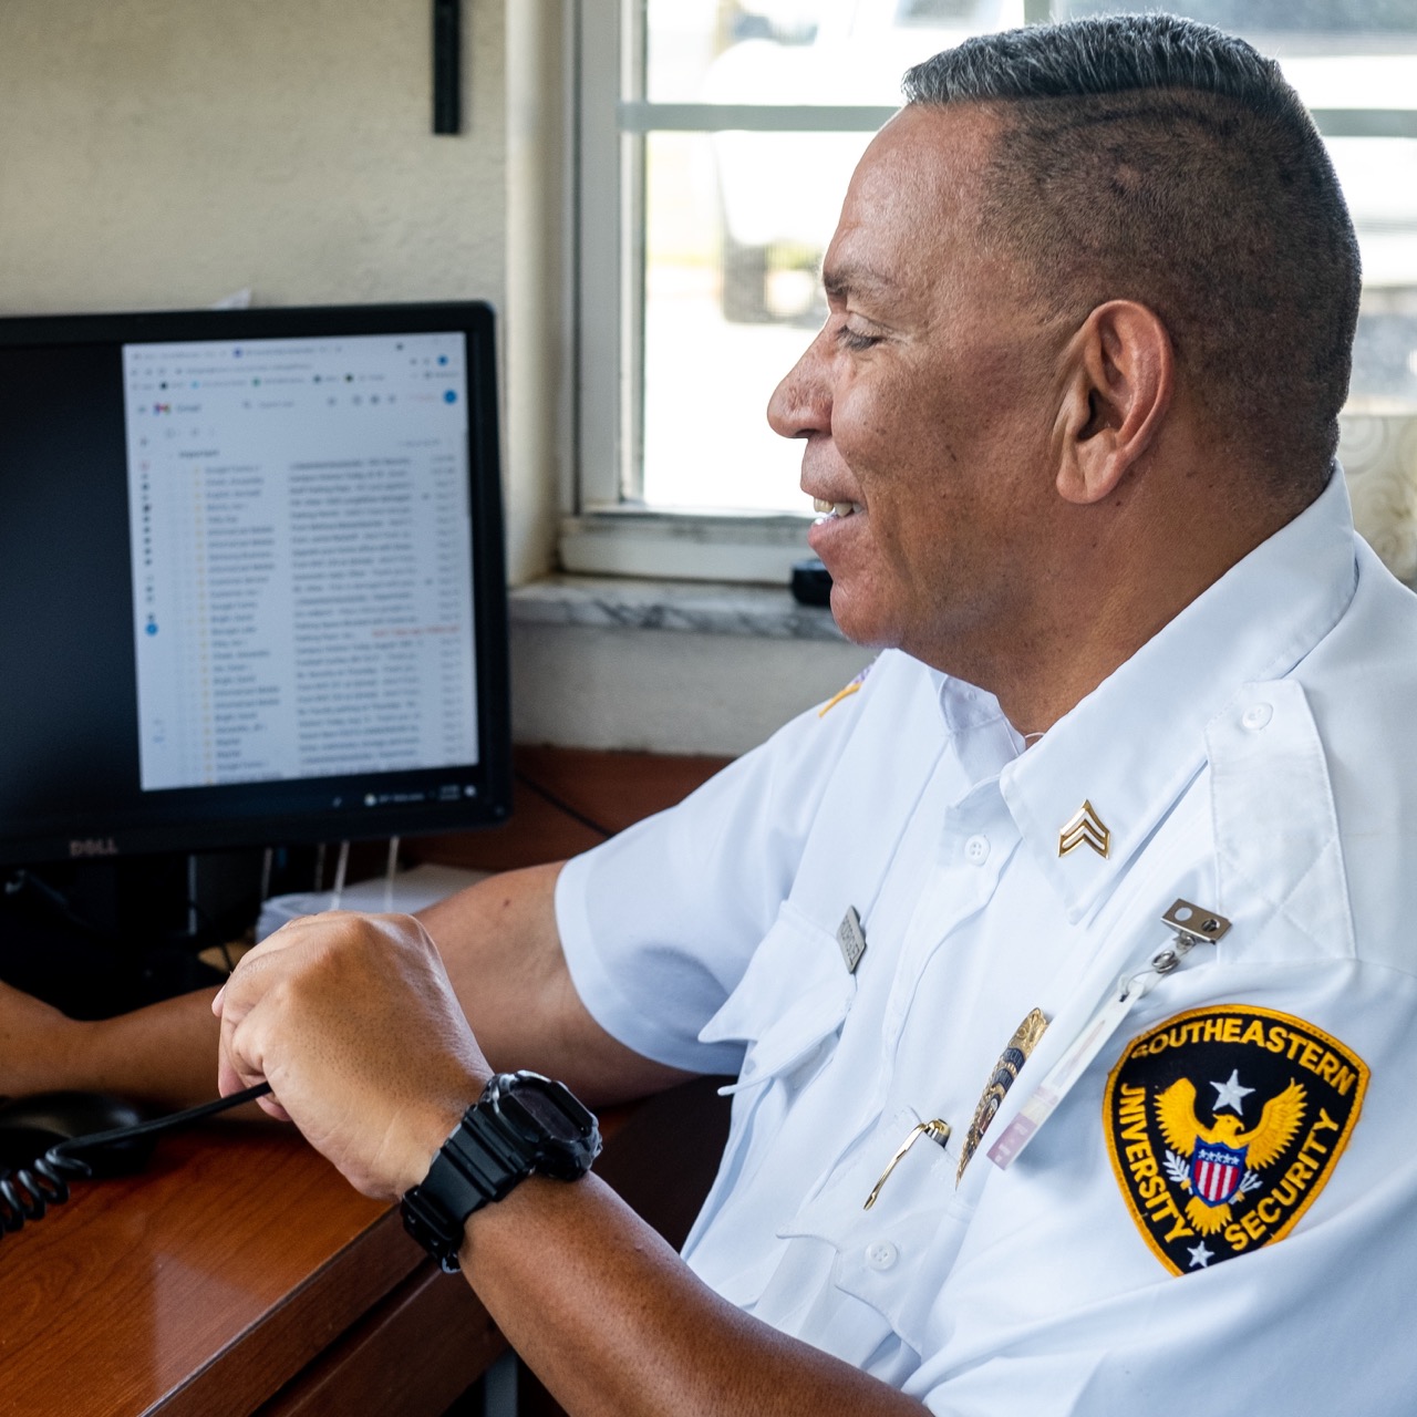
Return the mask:
[[[452,1240],[574,1413],[1406,1410],[1417,604],[1332,473],[1332,169],[1271,65],[1166,17],[907,96],[769,410],[891,652],[589,857],[281,931],[221,1087],[394,1197],[493,1064],[738,1073],[687,1264],[594,1176]],[[146,1026],[194,1060],[193,1007]],[[142,1080],[125,1026],[26,1009]]]

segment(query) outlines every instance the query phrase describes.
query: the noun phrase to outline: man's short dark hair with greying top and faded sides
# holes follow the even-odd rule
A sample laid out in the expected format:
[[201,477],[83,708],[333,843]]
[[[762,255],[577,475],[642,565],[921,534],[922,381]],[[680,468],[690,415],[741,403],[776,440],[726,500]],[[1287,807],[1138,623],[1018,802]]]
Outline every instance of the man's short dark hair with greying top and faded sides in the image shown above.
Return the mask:
[[1003,122],[982,235],[1051,313],[1148,305],[1229,448],[1288,499],[1338,446],[1359,256],[1333,164],[1280,67],[1168,14],[965,40],[913,68],[908,103]]

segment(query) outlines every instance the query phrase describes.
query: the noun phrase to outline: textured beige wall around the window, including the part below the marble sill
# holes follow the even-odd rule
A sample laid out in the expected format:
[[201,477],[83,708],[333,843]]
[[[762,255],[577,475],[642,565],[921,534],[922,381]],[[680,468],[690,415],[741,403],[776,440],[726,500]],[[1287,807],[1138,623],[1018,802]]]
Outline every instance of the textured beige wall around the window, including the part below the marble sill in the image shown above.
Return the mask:
[[[434,137],[428,0],[0,0],[0,315],[490,299],[521,581],[570,459],[564,7],[463,6]],[[735,752],[866,656],[519,626],[513,657],[527,741]]]

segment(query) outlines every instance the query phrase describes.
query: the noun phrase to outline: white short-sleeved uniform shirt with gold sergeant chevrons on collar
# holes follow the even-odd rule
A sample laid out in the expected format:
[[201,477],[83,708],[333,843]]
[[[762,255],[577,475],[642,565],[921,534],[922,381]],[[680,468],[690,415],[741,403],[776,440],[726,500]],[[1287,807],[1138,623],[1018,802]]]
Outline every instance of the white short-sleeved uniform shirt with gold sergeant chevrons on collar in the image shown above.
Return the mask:
[[[1335,476],[1027,751],[990,696],[888,653],[572,862],[557,918],[594,1016],[665,1063],[741,1068],[693,1268],[938,1413],[1413,1410],[1414,706],[1417,599],[1355,541]],[[1105,857],[1060,856],[1084,802]],[[1169,942],[1178,897],[1230,932],[998,1168],[1037,1083]],[[1034,1007],[1050,1026],[956,1187]],[[1162,1066],[1189,1078],[1179,1104]],[[931,1118],[945,1148],[918,1139],[864,1210]],[[1234,1169],[1203,1172],[1227,1138]]]

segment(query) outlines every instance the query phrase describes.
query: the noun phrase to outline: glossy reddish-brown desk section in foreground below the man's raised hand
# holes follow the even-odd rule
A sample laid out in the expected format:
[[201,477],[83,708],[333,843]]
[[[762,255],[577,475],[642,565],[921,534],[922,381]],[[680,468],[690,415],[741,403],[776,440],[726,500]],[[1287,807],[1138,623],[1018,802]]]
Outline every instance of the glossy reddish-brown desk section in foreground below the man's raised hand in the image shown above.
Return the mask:
[[397,1212],[273,1125],[77,1186],[0,1238],[0,1274],[6,1417],[438,1414],[506,1348]]

